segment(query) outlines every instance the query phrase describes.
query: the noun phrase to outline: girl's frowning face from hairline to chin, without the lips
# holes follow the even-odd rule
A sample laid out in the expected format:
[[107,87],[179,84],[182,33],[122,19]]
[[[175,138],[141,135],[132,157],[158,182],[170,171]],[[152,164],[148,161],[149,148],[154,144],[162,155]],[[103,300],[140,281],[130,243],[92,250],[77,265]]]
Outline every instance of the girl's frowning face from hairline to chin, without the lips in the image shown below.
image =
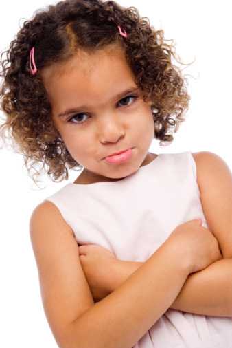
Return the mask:
[[[80,52],[68,63],[44,69],[42,76],[55,127],[89,178],[120,179],[149,162],[151,102],[143,102],[122,52]],[[126,162],[104,160],[129,148],[132,156]]]

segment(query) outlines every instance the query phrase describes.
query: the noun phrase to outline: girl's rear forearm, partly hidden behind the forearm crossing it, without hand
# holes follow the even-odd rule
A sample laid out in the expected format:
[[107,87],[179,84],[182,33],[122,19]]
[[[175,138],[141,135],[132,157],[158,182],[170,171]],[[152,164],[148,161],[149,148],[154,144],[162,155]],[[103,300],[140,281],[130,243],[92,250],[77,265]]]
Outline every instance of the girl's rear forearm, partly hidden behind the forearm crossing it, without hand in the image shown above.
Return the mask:
[[[118,261],[111,292],[143,265]],[[232,259],[218,260],[190,274],[170,308],[207,316],[232,316]]]

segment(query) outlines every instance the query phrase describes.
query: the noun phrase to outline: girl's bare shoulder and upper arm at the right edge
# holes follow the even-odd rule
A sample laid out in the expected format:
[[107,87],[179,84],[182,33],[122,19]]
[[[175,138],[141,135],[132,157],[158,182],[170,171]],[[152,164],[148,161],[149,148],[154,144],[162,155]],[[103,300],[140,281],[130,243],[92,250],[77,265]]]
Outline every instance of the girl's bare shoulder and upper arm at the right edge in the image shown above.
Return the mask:
[[232,257],[232,174],[216,153],[192,153],[196,162],[200,201],[209,230],[224,258]]

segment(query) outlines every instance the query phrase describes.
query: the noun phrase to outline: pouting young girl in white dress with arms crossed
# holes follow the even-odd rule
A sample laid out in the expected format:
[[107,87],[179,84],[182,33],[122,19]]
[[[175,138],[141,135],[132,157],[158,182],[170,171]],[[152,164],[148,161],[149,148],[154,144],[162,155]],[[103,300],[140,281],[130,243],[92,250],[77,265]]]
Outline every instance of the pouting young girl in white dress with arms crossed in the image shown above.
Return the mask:
[[172,142],[189,102],[163,31],[134,7],[66,0],[7,53],[2,131],[56,180],[84,168],[30,219],[59,347],[232,347],[229,168],[148,152]]

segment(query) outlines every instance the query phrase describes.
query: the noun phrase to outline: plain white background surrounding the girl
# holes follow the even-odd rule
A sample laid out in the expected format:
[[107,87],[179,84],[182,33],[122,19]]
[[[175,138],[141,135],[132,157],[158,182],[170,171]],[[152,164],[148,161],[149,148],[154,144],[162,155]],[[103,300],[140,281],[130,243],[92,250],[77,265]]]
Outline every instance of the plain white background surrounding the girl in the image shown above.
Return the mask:
[[[195,62],[183,70],[191,96],[186,121],[170,146],[154,140],[154,153],[211,151],[232,167],[231,159],[231,10],[230,1],[139,1],[120,0],[122,6],[136,6],[165,39],[174,39],[183,63]],[[0,14],[0,51],[25,19],[34,11],[56,1],[4,1]],[[183,67],[182,67],[183,68]],[[1,111],[0,111],[1,112]],[[0,346],[57,347],[40,298],[36,262],[29,235],[32,210],[69,181],[54,183],[46,175],[37,188],[23,157],[10,149],[0,150],[1,163],[1,244],[0,244]]]

